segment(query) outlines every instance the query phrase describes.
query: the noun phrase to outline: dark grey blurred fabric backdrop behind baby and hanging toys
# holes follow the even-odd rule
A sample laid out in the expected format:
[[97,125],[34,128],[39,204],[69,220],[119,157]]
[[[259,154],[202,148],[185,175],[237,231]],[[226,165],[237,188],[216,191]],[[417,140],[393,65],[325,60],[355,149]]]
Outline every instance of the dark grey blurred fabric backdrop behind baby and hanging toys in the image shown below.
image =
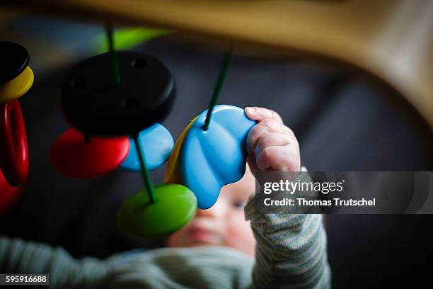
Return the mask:
[[[187,121],[207,108],[221,52],[166,40],[138,50],[158,57],[174,74],[178,98],[163,125],[177,138]],[[16,208],[0,217],[0,234],[64,246],[76,257],[105,258],[160,245],[125,237],[115,225],[122,200],[142,188],[139,174],[117,170],[96,179],[69,179],[50,165],[50,146],[69,128],[59,106],[67,69],[37,78],[21,98],[30,178]],[[390,89],[348,69],[236,55],[220,103],[277,111],[299,138],[302,164],[310,170],[433,171],[432,131],[396,99]],[[155,183],[162,182],[164,169],[152,173]],[[431,215],[328,215],[334,288],[429,281],[432,220]]]

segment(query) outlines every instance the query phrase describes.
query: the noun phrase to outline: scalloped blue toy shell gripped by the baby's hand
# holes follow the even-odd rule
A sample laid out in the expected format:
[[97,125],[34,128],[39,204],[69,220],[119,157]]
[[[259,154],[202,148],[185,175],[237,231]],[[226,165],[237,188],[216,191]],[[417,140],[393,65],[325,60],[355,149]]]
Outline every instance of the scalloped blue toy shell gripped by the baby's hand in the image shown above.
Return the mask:
[[200,209],[212,207],[219,191],[239,181],[246,169],[246,137],[255,125],[243,109],[215,106],[207,131],[202,130],[207,111],[187,132],[179,156],[182,183],[195,193]]

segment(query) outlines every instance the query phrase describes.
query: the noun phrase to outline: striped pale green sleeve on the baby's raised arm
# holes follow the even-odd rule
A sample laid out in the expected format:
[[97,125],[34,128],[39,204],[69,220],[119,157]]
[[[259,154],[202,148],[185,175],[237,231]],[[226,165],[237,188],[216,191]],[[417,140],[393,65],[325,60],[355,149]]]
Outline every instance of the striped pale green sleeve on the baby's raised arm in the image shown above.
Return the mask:
[[330,288],[322,215],[262,215],[254,197],[245,211],[257,240],[255,288]]

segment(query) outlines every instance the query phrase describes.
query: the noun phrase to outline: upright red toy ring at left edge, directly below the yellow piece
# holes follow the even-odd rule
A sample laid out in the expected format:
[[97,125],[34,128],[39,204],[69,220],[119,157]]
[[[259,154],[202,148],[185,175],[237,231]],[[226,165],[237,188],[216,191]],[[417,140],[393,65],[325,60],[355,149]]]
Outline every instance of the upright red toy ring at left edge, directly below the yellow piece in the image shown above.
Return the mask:
[[22,186],[28,177],[27,133],[18,101],[0,105],[0,168],[11,186]]

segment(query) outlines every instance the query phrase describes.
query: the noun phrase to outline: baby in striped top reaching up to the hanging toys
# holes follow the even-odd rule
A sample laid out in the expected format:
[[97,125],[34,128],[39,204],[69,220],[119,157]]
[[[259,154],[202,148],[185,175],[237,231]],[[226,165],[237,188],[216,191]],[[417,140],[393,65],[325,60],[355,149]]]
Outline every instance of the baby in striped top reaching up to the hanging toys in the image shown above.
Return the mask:
[[329,288],[321,215],[262,215],[252,194],[259,170],[301,171],[296,137],[274,111],[246,115],[258,124],[247,137],[245,176],[168,237],[168,248],[76,260],[0,237],[0,273],[50,273],[53,288]]

